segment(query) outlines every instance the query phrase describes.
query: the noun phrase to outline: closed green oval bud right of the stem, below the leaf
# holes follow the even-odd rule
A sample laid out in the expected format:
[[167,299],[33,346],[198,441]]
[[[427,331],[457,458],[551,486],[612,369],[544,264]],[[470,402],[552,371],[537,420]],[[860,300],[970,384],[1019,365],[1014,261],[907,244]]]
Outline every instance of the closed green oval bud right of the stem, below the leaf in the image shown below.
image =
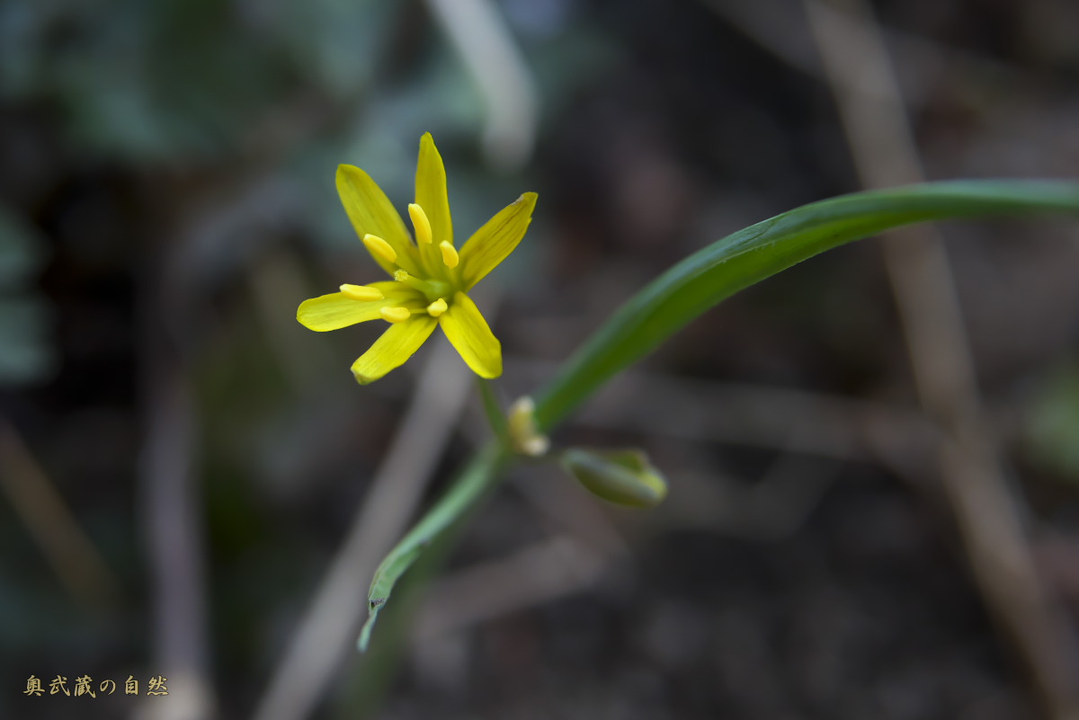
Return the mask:
[[589,451],[571,447],[562,467],[592,495],[630,508],[655,508],[667,497],[667,481],[640,449]]

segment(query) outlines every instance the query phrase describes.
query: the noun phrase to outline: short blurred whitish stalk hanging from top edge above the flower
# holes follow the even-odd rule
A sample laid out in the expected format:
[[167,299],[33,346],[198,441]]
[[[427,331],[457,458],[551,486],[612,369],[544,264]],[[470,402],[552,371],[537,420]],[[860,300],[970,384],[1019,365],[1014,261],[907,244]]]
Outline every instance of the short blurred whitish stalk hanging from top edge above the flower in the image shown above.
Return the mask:
[[532,155],[538,103],[535,81],[509,28],[491,0],[427,0],[487,103],[483,151],[500,170],[520,168]]

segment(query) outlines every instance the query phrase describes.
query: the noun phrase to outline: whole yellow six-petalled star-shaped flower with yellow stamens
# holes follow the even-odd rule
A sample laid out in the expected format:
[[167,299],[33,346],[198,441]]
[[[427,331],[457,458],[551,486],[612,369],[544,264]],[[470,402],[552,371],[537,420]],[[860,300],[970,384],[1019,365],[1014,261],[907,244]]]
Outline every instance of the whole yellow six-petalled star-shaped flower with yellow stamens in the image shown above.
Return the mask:
[[304,301],[296,319],[311,330],[337,330],[382,319],[390,328],[352,364],[366,385],[405,363],[441,326],[477,375],[502,374],[502,344],[468,291],[514,251],[532,222],[535,193],[524,193],[487,221],[457,250],[453,245],[446,168],[431,134],[420,139],[415,203],[408,206],[415,243],[385,193],[352,165],[340,165],[338,193],[356,234],[393,280],[342,285],[340,292]]

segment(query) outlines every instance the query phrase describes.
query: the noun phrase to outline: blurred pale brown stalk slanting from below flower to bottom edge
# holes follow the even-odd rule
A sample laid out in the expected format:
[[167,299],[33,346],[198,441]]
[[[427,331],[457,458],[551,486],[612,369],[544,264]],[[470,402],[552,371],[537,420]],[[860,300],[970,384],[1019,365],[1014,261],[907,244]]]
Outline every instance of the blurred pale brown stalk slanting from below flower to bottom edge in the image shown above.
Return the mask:
[[470,385],[472,374],[456,351],[449,343],[439,343],[423,365],[367,498],[273,671],[257,720],[300,720],[314,711],[341,661],[355,647],[371,576],[419,506]]

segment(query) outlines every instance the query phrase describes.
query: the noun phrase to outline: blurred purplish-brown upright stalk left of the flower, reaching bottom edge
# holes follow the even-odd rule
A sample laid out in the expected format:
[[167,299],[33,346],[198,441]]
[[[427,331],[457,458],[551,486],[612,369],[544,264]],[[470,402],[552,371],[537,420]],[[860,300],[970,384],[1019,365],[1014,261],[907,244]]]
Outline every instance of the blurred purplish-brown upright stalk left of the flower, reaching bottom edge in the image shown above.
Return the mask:
[[[243,182],[248,172],[201,186],[189,196],[162,208],[159,226],[175,226],[164,243],[153,248],[152,272],[140,287],[137,306],[145,337],[140,364],[141,403],[146,438],[139,460],[141,515],[147,538],[148,574],[153,598],[153,662],[168,680],[168,703],[148,702],[141,717],[152,720],[208,720],[217,715],[210,676],[210,624],[204,548],[203,498],[195,462],[200,437],[199,409],[192,387],[192,365],[204,347],[205,324],[200,322],[205,296],[206,268],[213,252],[227,246],[229,227],[243,227],[245,219],[263,217],[271,205],[281,212],[285,202],[279,186]],[[238,194],[237,186],[246,190]],[[183,202],[186,200],[186,202]],[[231,238],[230,238],[231,239]],[[152,701],[152,698],[150,698]]]

